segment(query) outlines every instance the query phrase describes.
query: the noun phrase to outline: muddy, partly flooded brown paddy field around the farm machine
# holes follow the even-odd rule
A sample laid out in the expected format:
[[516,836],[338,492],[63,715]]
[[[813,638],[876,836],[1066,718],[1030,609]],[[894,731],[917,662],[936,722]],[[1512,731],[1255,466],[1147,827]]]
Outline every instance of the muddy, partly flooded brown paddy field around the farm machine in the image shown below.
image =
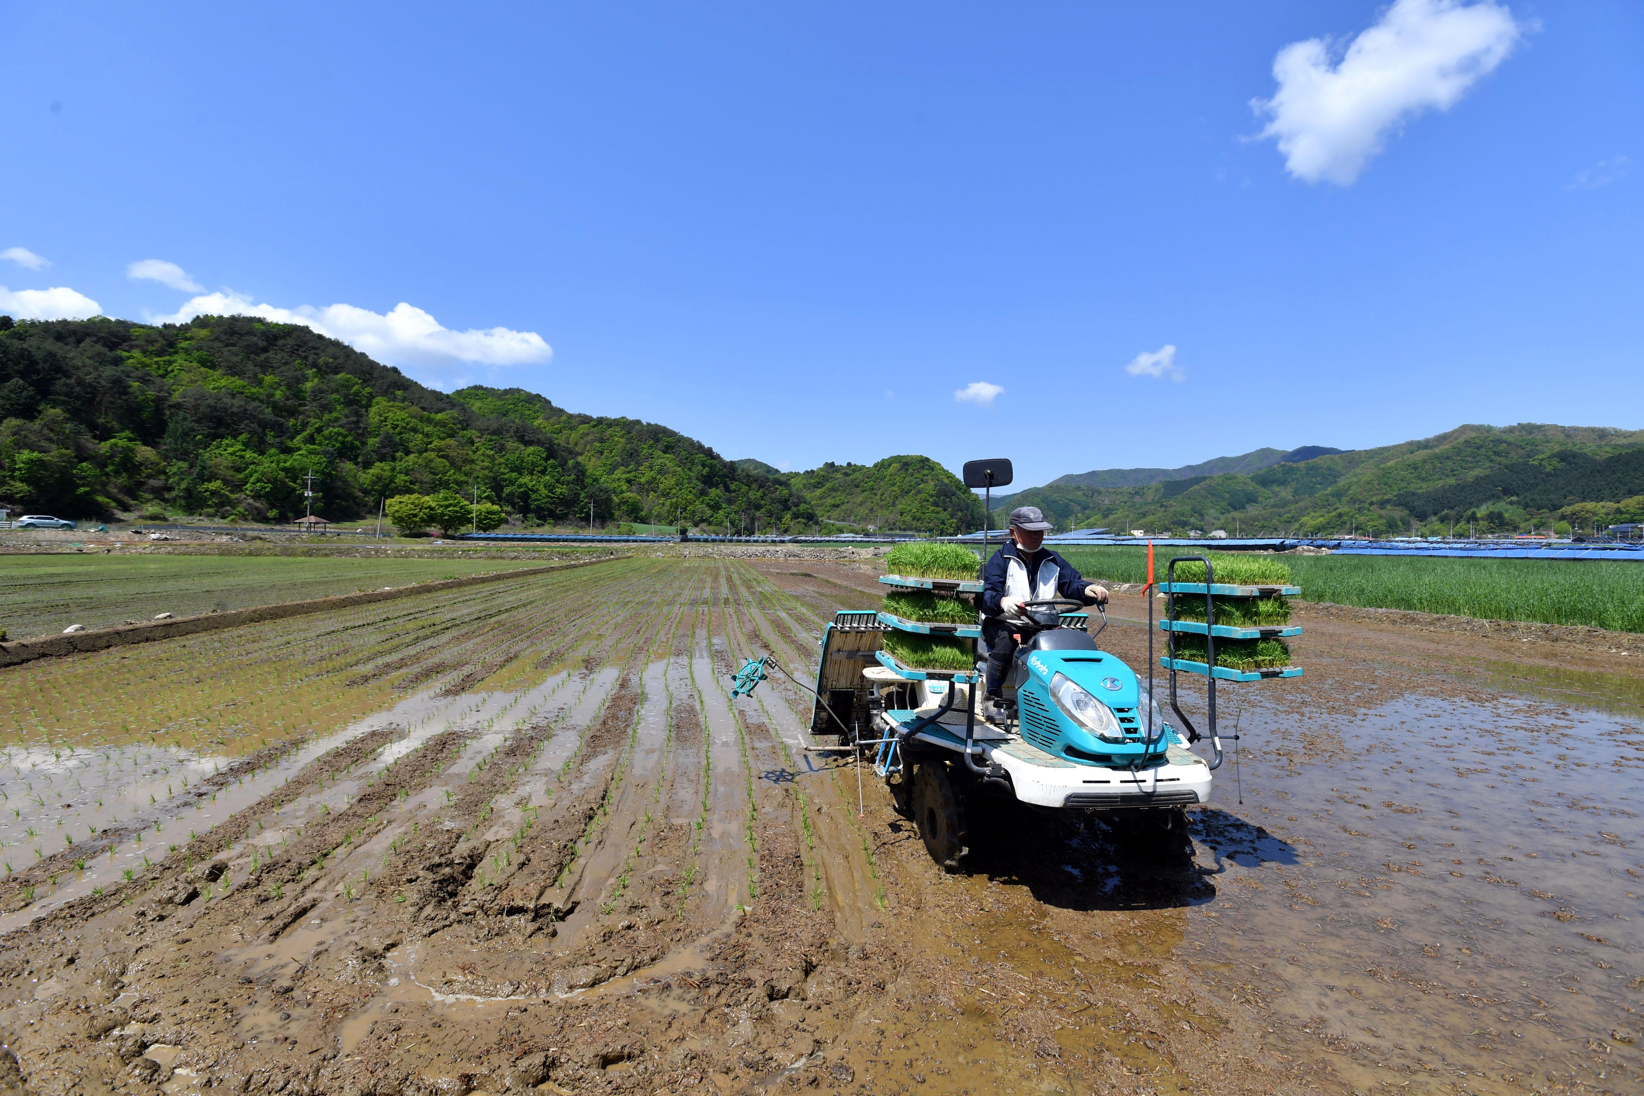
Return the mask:
[[1302,610],[1190,845],[983,805],[944,874],[806,693],[728,695],[876,573],[638,555],[0,670],[0,1091],[1644,1091],[1636,659]]

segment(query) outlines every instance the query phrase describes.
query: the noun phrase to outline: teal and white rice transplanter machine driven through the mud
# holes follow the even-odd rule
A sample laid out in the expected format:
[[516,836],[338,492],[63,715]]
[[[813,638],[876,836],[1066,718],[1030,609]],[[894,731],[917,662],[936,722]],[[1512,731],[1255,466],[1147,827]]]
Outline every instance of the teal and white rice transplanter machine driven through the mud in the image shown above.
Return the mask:
[[[1009,483],[1008,460],[965,465],[967,486],[988,490]],[[991,500],[990,500],[991,501]],[[986,552],[986,534],[983,539]],[[985,557],[983,557],[985,559]],[[1202,560],[1207,582],[1174,582],[1175,564]],[[980,560],[978,560],[980,562]],[[1152,623],[1154,590],[1148,592],[1149,657],[1141,679],[1097,636],[1106,628],[1105,610],[1095,634],[1082,603],[1054,598],[1028,601],[1016,656],[1004,682],[1003,713],[981,703],[986,647],[980,615],[975,623],[909,621],[886,611],[840,610],[822,634],[810,733],[837,736],[837,748],[888,785],[896,810],[911,818],[931,856],[955,871],[967,846],[967,807],[978,797],[1014,799],[1042,812],[1098,812],[1126,828],[1157,823],[1177,836],[1187,833],[1189,807],[1210,799],[1212,772],[1221,764],[1217,730],[1217,684],[1295,677],[1295,667],[1240,672],[1215,664],[1215,641],[1251,639],[1274,629],[1215,623],[1218,598],[1294,595],[1291,587],[1231,587],[1215,582],[1202,555],[1172,559],[1164,619]],[[980,573],[980,567],[978,567]],[[1149,577],[1151,578],[1151,577]],[[881,575],[889,588],[926,592],[980,603],[980,580]],[[1152,583],[1149,583],[1152,585]],[[1175,595],[1207,603],[1205,621],[1177,619]],[[907,665],[886,651],[891,631],[967,641],[975,654],[970,669],[934,670]],[[1152,636],[1164,633],[1162,657],[1154,662]],[[1282,634],[1299,629],[1286,628]],[[1207,662],[1177,657],[1175,639],[1197,633],[1208,647]],[[737,692],[750,692],[764,677],[768,659],[748,662],[737,675]],[[1156,702],[1154,665],[1166,670],[1167,718]],[[1205,682],[1203,730],[1180,708],[1179,675]],[[1230,736],[1236,738],[1236,735]],[[1192,746],[1205,741],[1210,758]]]

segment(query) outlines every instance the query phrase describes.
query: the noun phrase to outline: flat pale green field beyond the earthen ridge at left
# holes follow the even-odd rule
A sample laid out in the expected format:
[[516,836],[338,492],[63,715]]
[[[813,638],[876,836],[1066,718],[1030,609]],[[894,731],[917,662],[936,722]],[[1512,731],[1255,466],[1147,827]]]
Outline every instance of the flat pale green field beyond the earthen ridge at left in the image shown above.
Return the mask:
[[283,555],[0,555],[0,628],[10,639],[302,601],[334,593],[539,567],[541,560]]

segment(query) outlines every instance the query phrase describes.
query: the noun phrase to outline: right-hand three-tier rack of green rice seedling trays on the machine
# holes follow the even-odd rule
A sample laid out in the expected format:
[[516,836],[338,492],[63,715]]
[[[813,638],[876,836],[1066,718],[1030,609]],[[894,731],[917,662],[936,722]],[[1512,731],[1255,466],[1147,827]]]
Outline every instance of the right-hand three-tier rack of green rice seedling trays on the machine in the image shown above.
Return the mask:
[[[1177,582],[1177,564],[1203,565],[1203,582]],[[1194,570],[1197,572],[1197,567]],[[1215,564],[1205,555],[1177,555],[1169,562],[1166,575],[1166,582],[1159,583],[1159,593],[1166,595],[1166,616],[1159,621],[1159,631],[1166,634],[1166,652],[1159,657],[1159,665],[1171,672],[1171,708],[1189,731],[1194,725],[1177,703],[1177,675],[1197,674],[1205,679],[1207,733],[1217,753],[1210,767],[1215,769],[1221,764],[1217,682],[1261,682],[1302,675],[1302,667],[1291,665],[1291,649],[1286,642],[1302,634],[1300,628],[1289,623],[1287,600],[1302,590],[1287,582],[1217,582]],[[1152,608],[1154,598],[1149,596],[1149,621]],[[1148,647],[1151,693],[1151,638]],[[1238,741],[1238,735],[1231,738]]]

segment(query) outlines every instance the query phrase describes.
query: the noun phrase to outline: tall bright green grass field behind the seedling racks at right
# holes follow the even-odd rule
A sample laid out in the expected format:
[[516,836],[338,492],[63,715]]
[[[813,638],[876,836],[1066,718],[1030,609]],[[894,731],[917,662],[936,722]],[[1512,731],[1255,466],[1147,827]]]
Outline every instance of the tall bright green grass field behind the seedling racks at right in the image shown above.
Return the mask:
[[[1154,549],[1156,578],[1174,549]],[[1088,578],[1146,582],[1146,547],[1067,549]],[[1644,633],[1644,564],[1284,555],[1302,601]]]

